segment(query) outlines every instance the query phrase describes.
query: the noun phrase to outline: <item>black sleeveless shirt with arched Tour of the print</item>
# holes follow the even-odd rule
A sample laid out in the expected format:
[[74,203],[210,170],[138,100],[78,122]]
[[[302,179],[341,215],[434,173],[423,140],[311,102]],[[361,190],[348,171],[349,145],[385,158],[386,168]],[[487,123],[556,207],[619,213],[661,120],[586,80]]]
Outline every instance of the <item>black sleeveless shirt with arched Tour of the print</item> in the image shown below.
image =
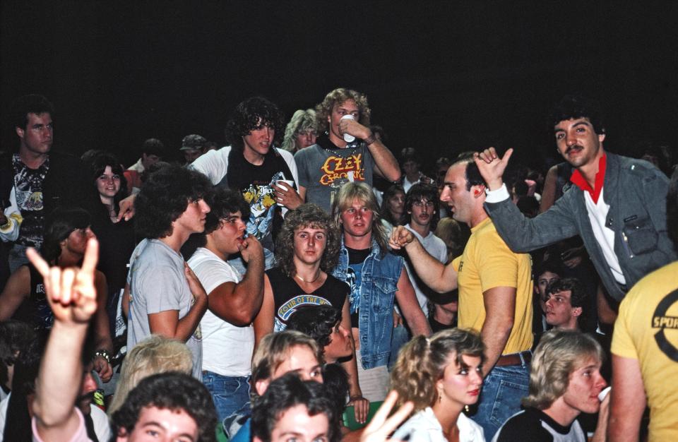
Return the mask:
[[292,316],[292,313],[298,307],[329,304],[335,309],[341,310],[348,296],[348,285],[332,275],[327,275],[323,285],[311,293],[304,292],[295,278],[285,275],[279,267],[266,270],[266,275],[268,275],[270,287],[273,289],[275,301],[274,330],[276,332],[287,328],[287,319]]

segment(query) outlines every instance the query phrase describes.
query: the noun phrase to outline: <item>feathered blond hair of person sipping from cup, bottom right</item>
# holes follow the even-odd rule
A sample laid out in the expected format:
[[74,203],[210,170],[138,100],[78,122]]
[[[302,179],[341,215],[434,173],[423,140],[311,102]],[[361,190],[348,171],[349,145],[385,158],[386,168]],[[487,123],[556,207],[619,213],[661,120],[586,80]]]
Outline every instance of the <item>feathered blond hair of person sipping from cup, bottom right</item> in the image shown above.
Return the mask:
[[529,395],[525,407],[546,410],[565,394],[570,375],[588,360],[605,361],[600,344],[587,333],[576,330],[550,330],[542,335],[530,366]]

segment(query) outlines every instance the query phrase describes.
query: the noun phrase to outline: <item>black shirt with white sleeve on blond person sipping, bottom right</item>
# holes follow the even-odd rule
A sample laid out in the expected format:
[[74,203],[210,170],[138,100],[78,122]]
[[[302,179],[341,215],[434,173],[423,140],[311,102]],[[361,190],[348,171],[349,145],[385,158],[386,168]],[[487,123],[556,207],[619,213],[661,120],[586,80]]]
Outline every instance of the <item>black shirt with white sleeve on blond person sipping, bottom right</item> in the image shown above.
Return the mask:
[[511,417],[501,426],[496,442],[585,442],[586,435],[574,420],[569,426],[562,426],[548,414],[535,408],[527,408]]

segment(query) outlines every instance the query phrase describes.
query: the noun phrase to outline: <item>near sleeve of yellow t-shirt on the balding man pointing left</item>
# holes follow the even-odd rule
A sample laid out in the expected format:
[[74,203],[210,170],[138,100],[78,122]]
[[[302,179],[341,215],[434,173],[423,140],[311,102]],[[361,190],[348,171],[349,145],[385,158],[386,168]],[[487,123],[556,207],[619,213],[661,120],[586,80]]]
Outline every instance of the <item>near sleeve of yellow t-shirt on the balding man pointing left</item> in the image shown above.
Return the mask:
[[499,234],[492,233],[491,250],[477,251],[478,273],[482,292],[494,287],[518,287],[518,256],[501,240]]

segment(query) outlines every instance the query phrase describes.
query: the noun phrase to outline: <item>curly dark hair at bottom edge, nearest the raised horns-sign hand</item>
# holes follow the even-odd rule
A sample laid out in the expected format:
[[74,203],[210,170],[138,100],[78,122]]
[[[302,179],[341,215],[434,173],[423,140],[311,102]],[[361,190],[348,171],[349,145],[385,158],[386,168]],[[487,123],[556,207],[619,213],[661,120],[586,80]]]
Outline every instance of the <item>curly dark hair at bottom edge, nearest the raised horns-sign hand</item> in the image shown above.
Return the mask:
[[183,373],[168,372],[144,378],[111,417],[111,434],[129,436],[145,407],[184,411],[198,426],[198,442],[215,441],[217,413],[203,383]]

